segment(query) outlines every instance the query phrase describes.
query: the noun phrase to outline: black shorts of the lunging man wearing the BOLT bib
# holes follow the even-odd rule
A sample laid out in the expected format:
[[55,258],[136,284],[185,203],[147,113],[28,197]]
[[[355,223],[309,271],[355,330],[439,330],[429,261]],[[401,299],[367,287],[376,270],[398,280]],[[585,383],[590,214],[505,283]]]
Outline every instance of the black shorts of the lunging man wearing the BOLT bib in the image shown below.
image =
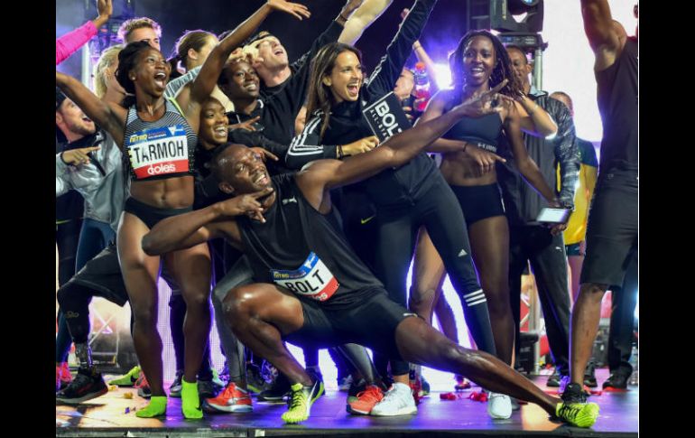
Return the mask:
[[377,289],[364,302],[339,311],[326,310],[314,301],[300,301],[304,325],[286,335],[285,340],[316,348],[355,343],[393,359],[401,359],[395,345],[396,327],[408,316],[417,316],[391,300],[384,289]]

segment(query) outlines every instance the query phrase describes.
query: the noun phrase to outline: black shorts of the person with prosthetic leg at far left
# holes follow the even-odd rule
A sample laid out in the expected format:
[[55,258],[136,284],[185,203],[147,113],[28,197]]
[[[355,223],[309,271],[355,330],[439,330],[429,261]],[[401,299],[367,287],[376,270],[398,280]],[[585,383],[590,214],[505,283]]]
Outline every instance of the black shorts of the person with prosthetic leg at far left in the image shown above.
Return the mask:
[[87,265],[82,267],[79,273],[73,275],[70,281],[60,289],[66,288],[70,284],[87,287],[94,291],[94,296],[106,298],[119,306],[128,302],[128,293],[125,290],[121,266],[118,264],[118,251],[113,243],[89,260]]

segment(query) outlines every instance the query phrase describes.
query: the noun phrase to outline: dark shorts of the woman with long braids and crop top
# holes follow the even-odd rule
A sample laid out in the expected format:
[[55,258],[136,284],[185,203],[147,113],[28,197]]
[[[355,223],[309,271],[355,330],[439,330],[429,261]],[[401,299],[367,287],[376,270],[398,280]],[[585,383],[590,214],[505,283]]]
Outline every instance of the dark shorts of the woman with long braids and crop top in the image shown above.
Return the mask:
[[459,205],[466,219],[466,225],[470,227],[478,220],[505,216],[505,204],[502,201],[502,192],[499,185],[450,185],[451,191],[459,200]]

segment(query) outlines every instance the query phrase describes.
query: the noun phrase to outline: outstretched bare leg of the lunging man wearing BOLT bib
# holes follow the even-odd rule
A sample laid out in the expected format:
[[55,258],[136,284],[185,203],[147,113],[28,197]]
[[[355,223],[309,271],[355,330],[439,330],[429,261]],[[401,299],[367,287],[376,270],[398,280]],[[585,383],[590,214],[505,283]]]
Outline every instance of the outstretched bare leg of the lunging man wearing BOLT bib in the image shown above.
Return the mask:
[[404,360],[462,374],[491,391],[540,405],[551,415],[561,402],[501,360],[484,351],[455,344],[420,318],[405,318],[398,324],[395,341]]

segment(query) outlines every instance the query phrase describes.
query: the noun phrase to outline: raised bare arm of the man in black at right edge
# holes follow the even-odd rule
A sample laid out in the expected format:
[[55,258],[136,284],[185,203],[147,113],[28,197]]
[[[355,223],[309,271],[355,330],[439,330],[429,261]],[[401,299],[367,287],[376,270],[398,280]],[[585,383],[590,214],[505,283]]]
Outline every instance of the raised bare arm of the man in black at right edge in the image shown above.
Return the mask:
[[607,69],[623,50],[625,39],[621,39],[619,28],[613,23],[607,0],[581,0],[581,16],[588,44],[596,54],[597,71]]

